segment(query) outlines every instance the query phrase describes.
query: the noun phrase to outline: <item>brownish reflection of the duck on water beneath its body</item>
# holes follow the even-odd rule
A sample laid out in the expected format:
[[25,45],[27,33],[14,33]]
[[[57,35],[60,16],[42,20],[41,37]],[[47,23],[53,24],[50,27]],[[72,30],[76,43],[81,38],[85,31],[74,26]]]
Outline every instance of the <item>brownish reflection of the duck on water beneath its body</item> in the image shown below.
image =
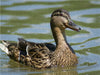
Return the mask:
[[[16,65],[15,65],[16,64]],[[4,66],[2,66],[4,67]],[[14,62],[13,60],[10,60],[8,62],[8,66],[6,68],[10,68],[8,71],[15,73],[14,75],[78,75],[78,72],[76,70],[76,66],[74,67],[55,67],[51,69],[33,69],[27,66],[24,66],[22,64],[19,64],[17,62]],[[15,70],[16,69],[16,70]],[[5,72],[5,69],[2,69],[2,72]],[[26,71],[26,72],[25,72]],[[7,73],[4,73],[7,74]]]

